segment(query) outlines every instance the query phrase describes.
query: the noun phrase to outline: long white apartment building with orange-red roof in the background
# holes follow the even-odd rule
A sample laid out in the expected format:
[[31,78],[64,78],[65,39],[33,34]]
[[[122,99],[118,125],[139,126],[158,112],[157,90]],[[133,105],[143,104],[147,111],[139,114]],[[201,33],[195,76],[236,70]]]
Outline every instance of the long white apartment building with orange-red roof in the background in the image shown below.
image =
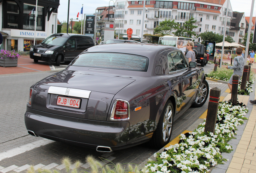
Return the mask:
[[[191,17],[196,19],[195,25],[198,28],[195,28],[194,31],[197,35],[206,31],[224,33],[227,0],[146,0],[145,17],[142,19],[143,2],[143,0],[116,0],[114,4],[116,33],[120,32],[125,36],[126,30],[132,28],[132,35],[140,38],[141,32],[154,34],[154,28],[165,19],[174,19],[180,26],[183,26],[184,22]],[[226,35],[231,36],[235,42],[239,42],[239,39],[244,36],[244,31],[233,30],[234,27],[230,26],[231,20],[235,19],[230,2],[227,11]],[[144,20],[143,30],[142,20]],[[240,27],[242,23],[246,25],[244,18],[241,21]],[[243,28],[241,29],[243,30]],[[200,37],[193,37],[195,42],[201,42]]]

